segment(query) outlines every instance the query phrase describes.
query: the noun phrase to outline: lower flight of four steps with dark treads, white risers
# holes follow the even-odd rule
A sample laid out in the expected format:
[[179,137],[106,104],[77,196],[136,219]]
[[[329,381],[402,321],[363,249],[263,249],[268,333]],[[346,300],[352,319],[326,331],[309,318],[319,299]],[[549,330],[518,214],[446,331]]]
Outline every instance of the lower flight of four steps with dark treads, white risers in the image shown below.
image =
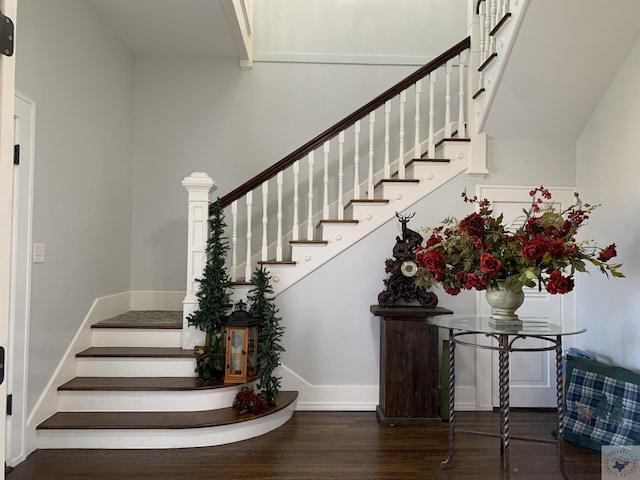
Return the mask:
[[297,392],[281,392],[265,413],[240,415],[231,405],[243,385],[198,387],[181,329],[179,311],[129,312],[94,324],[93,346],[76,355],[77,376],[58,387],[58,412],[36,428],[37,448],[220,445],[291,418]]

